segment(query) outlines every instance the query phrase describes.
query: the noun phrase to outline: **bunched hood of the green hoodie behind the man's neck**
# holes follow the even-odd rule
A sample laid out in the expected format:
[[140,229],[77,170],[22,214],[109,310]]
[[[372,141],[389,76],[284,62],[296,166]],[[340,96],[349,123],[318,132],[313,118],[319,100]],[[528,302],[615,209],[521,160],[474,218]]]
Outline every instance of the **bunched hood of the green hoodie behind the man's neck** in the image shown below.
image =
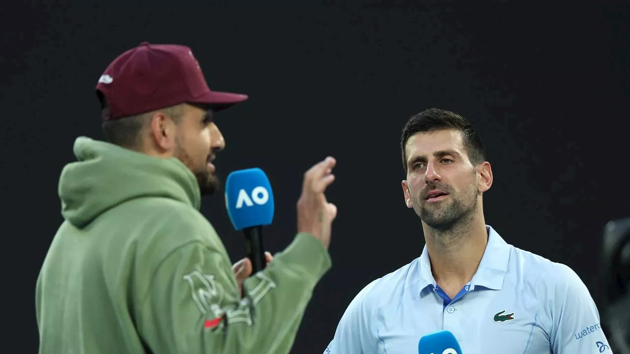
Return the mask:
[[77,162],[67,164],[59,179],[64,219],[83,228],[120,203],[142,197],[163,197],[201,205],[195,175],[179,159],[163,159],[120,146],[79,137]]

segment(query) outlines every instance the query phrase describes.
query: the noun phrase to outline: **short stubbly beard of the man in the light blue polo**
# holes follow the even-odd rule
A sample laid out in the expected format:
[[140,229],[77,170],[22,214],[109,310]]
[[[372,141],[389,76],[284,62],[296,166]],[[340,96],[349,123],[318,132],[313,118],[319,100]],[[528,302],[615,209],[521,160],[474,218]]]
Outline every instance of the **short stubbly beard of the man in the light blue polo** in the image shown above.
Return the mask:
[[413,198],[413,209],[420,220],[439,231],[454,229],[462,221],[470,219],[477,207],[477,188],[471,188],[458,193],[451,193],[447,186],[427,186],[428,190],[439,189],[449,193],[445,200],[428,202],[424,192],[417,193]]

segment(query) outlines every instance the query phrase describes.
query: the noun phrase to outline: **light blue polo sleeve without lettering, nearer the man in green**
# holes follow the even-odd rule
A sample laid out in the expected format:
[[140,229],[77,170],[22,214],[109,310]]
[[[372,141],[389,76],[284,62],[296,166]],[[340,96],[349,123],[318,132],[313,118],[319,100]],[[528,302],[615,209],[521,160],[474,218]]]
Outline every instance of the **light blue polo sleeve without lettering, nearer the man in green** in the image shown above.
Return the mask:
[[337,325],[335,336],[330,341],[324,354],[375,354],[375,338],[370,331],[370,311],[372,311],[367,300],[370,289],[377,282],[370,283],[364,287],[350,302],[346,311],[341,316]]

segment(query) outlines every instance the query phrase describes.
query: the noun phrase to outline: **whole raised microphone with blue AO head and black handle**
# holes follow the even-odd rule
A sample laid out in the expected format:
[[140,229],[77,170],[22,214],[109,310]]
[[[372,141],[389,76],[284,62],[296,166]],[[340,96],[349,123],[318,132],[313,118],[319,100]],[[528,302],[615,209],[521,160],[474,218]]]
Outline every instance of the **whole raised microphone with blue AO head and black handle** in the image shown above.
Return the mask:
[[263,270],[266,265],[263,226],[273,220],[273,192],[262,169],[241,169],[227,176],[226,207],[234,229],[245,234],[252,273]]

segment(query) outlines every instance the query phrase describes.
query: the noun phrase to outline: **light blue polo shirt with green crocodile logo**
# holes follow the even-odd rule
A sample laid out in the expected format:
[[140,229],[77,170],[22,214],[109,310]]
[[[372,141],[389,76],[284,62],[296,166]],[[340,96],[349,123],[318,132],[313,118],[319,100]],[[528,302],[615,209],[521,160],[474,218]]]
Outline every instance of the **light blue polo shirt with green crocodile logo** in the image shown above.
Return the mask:
[[436,285],[425,246],[357,294],[324,353],[418,353],[420,337],[442,329],[464,354],[612,353],[597,307],[571,268],[486,230],[479,268],[455,299]]

